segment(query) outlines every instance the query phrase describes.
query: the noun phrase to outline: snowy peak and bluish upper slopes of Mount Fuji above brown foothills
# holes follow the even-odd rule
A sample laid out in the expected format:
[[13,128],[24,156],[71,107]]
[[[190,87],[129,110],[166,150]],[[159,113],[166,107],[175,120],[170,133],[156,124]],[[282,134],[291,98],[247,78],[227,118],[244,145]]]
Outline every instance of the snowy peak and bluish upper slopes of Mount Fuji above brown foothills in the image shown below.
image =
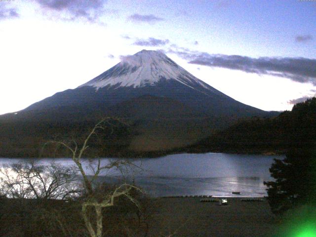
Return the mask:
[[[160,51],[142,50],[96,78],[56,93],[24,111],[47,113],[68,108],[74,116],[89,112],[111,114],[111,106],[144,95],[169,98],[207,116],[267,116],[268,112],[242,104],[197,79]],[[153,108],[154,109],[154,108]],[[92,114],[91,114],[92,112]],[[58,113],[59,114],[59,113]],[[43,115],[44,116],[44,115]],[[64,116],[62,116],[64,118]]]

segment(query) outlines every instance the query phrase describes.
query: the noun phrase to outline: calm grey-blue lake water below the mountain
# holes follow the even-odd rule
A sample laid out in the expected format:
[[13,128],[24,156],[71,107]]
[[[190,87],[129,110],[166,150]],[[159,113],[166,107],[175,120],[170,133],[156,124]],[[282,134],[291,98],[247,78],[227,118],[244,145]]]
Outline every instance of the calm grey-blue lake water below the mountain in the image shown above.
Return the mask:
[[[132,159],[135,165],[141,167],[133,169],[132,177],[137,185],[155,197],[264,197],[267,192],[263,182],[272,180],[269,168],[274,158],[284,157],[206,153]],[[0,166],[19,160],[21,159],[0,158]],[[73,164],[70,158],[45,158],[40,163],[49,164],[52,160],[63,165]],[[107,164],[110,160],[113,159],[102,158],[101,163]],[[87,160],[85,163],[88,163]],[[85,168],[88,171],[87,165]],[[119,182],[121,179],[117,170],[110,170],[102,175],[101,179],[111,182]],[[240,195],[233,195],[232,192],[240,192]]]

